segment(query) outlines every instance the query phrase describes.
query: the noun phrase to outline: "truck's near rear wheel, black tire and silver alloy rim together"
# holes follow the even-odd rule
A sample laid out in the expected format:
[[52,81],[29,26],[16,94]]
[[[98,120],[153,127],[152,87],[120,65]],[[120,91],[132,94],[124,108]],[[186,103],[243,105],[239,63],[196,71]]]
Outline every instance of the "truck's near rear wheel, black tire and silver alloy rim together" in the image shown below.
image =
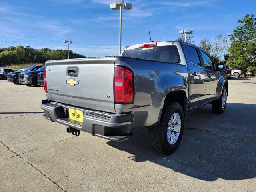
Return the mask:
[[158,126],[148,128],[148,140],[154,150],[172,154],[179,146],[184,130],[184,113],[177,102],[170,103]]

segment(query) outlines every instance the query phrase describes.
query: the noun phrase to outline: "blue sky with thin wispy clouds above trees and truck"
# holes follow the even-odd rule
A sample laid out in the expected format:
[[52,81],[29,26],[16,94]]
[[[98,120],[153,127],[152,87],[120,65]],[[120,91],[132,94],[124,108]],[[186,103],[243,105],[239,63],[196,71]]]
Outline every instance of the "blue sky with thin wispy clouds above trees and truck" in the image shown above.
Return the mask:
[[[118,55],[119,12],[114,0],[0,0],[0,47],[70,49],[85,56]],[[126,1],[124,1],[126,2]],[[238,18],[256,13],[255,0],[127,0],[122,45],[175,40],[179,30],[194,31],[195,44],[204,37],[225,37]]]

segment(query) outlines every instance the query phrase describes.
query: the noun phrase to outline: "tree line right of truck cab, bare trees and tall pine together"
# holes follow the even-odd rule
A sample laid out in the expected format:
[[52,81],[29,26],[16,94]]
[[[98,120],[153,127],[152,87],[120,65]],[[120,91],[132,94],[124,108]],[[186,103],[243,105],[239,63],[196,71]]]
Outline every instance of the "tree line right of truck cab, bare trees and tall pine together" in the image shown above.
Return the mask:
[[[184,36],[178,40],[184,41]],[[194,43],[193,36],[187,36],[187,42]],[[243,19],[238,19],[238,26],[227,39],[222,35],[216,36],[214,40],[205,37],[198,44],[212,58],[215,64],[224,62],[234,69],[246,72],[250,70],[256,73],[256,16],[246,14]]]

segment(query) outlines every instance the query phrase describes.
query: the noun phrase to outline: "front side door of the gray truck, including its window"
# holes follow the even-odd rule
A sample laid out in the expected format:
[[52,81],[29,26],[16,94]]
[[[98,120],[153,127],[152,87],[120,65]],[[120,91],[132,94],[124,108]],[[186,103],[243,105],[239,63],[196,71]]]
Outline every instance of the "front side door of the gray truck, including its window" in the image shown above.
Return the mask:
[[210,59],[210,57],[200,50],[200,54],[202,55],[202,60],[204,63],[204,68],[206,71],[206,92],[205,92],[205,101],[210,102],[215,99],[217,86],[219,82],[219,74],[216,72],[214,63]]

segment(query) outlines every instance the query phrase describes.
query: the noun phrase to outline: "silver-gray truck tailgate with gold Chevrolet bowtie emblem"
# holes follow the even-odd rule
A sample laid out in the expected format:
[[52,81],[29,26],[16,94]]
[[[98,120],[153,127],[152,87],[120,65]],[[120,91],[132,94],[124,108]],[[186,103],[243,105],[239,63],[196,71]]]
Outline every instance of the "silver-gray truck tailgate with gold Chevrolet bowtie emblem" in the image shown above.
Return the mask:
[[[92,110],[115,112],[114,58],[47,61],[48,99]],[[77,67],[78,76],[67,74]]]

